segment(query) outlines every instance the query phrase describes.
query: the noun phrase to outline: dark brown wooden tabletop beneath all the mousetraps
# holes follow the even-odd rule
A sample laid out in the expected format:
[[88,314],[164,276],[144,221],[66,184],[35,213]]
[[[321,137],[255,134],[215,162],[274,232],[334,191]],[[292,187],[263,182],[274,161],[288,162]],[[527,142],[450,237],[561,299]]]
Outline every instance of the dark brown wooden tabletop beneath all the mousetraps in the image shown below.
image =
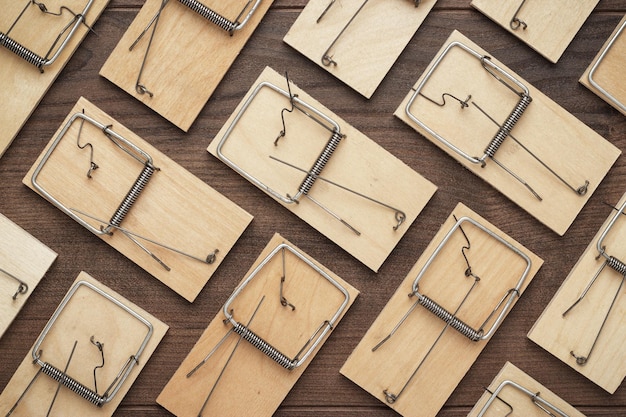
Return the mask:
[[[28,353],[70,284],[85,270],[170,325],[170,331],[116,413],[118,416],[169,415],[156,404],[157,395],[261,249],[274,232],[279,232],[358,288],[361,295],[276,416],[396,415],[341,376],[339,368],[439,225],[461,201],[537,253],[545,264],[438,417],[465,416],[482,394],[482,387],[491,382],[507,360],[587,416],[626,416],[623,387],[614,395],[607,394],[526,338],[611,212],[604,203],[615,204],[626,191],[624,156],[618,159],[565,236],[559,237],[392,115],[456,28],[604,138],[626,150],[626,118],[577,81],[626,12],[624,0],[601,0],[557,64],[549,63],[472,9],[468,0],[439,0],[370,100],[282,42],[305,3],[305,0],[274,2],[189,133],[183,134],[98,76],[105,59],[143,4],[140,0],[111,1],[94,26],[97,36],[87,36],[0,159],[0,212],[59,254],[0,339],[0,389]],[[279,72],[288,70],[290,78],[301,88],[439,187],[378,274],[339,250],[207,153],[208,143],[266,65]],[[91,100],[255,216],[193,304],[21,184],[22,177],[80,96]],[[10,105],[0,103],[0,111]],[[234,392],[233,401],[245,399],[238,398]]]

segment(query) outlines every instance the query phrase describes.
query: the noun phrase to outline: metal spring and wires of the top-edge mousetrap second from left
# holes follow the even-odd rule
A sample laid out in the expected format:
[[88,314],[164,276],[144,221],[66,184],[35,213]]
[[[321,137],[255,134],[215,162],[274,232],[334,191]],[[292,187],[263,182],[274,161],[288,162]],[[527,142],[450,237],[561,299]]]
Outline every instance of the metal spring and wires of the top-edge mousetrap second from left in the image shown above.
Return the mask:
[[[154,97],[154,93],[148,90],[145,84],[141,82],[141,78],[144,72],[144,68],[146,66],[146,61],[148,59],[148,54],[152,46],[152,40],[154,38],[157,25],[159,23],[161,13],[163,12],[163,9],[165,8],[165,6],[167,6],[169,1],[170,0],[161,1],[161,6],[157,10],[156,14],[152,17],[152,19],[150,19],[145,29],[139,34],[137,39],[135,39],[135,41],[128,48],[129,51],[132,51],[135,48],[135,46],[139,43],[139,41],[144,37],[144,35],[148,32],[148,30],[152,28],[152,31],[150,32],[150,38],[148,40],[148,45],[146,46],[144,56],[141,61],[141,66],[139,68],[139,74],[137,75],[137,81],[135,82],[135,91],[137,91],[138,94],[148,94],[148,96]],[[254,4],[252,4],[253,1],[254,1]],[[202,16],[203,18],[213,23],[220,29],[226,31],[232,36],[233,33],[235,33],[238,30],[241,30],[246,25],[248,20],[252,17],[254,12],[256,11],[258,5],[261,3],[261,0],[248,0],[248,2],[244,5],[243,9],[241,10],[241,12],[239,12],[239,15],[234,21],[229,20],[228,18],[222,16],[218,12],[205,6],[204,4],[200,3],[197,0],[178,0],[178,2],[184,6],[187,6],[193,12]],[[246,14],[246,11],[248,11],[247,14]],[[243,20],[240,21],[242,17],[243,17]]]

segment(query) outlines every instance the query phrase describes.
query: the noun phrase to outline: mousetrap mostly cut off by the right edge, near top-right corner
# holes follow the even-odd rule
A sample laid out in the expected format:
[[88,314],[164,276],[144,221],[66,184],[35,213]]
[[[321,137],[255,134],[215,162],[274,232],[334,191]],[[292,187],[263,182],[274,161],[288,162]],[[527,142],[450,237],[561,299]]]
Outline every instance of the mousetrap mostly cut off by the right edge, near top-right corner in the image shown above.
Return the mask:
[[580,83],[626,115],[626,82],[622,74],[626,60],[626,15],[604,43]]

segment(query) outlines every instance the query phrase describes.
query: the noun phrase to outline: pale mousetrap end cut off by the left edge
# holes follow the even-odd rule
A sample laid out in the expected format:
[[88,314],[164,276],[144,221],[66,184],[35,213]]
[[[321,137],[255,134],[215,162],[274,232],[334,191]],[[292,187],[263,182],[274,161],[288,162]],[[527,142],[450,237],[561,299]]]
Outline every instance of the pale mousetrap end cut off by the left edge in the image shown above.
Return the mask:
[[57,254],[0,214],[0,337],[11,325]]

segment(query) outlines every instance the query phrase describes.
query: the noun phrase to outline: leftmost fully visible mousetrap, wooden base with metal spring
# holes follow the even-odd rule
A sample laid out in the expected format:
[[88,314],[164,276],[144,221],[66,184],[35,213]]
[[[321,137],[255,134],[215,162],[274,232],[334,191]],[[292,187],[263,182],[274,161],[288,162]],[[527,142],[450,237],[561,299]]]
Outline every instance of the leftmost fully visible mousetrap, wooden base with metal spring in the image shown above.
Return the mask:
[[23,182],[190,302],[252,221],[84,98]]

